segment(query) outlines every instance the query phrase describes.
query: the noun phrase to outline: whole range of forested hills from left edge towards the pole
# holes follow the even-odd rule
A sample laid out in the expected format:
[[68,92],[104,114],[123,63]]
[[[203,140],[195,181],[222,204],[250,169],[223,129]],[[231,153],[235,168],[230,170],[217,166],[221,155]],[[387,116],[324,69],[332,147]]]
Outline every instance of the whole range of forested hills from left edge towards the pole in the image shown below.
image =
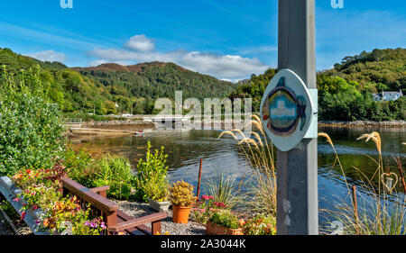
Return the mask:
[[0,71],[0,85],[5,78],[4,71],[19,80],[27,75],[39,75],[44,93],[66,113],[152,113],[154,99],[173,99],[177,90],[183,91],[184,98],[225,97],[235,87],[173,63],[68,68],[59,62],[43,62],[0,48],[2,66],[5,70]]

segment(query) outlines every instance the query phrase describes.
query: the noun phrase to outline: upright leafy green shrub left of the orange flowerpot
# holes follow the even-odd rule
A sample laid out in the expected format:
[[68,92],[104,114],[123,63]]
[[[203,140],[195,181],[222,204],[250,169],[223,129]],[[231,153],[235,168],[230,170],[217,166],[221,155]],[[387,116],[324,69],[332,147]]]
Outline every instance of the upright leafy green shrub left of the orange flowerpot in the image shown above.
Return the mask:
[[151,143],[148,142],[147,146],[146,158],[140,159],[134,176],[135,195],[143,202],[147,202],[147,197],[155,201],[165,201],[168,198],[168,167],[165,167],[168,155],[163,153],[163,147],[161,150],[155,149],[152,154]]

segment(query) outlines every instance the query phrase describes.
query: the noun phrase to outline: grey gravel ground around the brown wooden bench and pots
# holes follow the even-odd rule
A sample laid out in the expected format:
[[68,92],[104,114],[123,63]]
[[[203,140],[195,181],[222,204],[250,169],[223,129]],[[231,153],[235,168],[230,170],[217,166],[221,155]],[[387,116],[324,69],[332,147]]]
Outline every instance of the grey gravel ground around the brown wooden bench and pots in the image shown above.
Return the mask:
[[[134,216],[135,218],[142,217],[148,214],[156,212],[153,210],[149,203],[136,203],[120,201],[116,202],[120,206],[120,210],[127,213],[128,215]],[[146,224],[146,226],[151,228],[151,223]],[[172,211],[168,211],[168,218],[162,220],[161,230],[163,232],[169,232],[171,235],[204,235],[206,234],[206,226],[190,221],[188,224],[173,223],[172,222]]]

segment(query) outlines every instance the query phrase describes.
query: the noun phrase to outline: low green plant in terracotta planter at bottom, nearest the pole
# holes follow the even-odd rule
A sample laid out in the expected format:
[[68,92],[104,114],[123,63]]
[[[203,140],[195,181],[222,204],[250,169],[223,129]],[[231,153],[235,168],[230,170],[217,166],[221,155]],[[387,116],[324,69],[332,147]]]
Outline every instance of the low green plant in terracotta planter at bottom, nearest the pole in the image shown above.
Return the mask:
[[206,223],[208,235],[243,235],[242,221],[228,210],[214,212]]

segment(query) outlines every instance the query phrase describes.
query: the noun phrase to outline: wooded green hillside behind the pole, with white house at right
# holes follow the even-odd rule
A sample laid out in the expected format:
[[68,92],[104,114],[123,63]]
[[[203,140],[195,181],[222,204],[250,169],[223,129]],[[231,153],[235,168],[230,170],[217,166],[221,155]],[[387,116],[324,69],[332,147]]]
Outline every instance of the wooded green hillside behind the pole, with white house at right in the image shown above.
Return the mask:
[[[253,75],[229,96],[252,97],[259,112],[263,92],[277,69]],[[318,72],[320,120],[406,120],[406,97],[398,101],[374,102],[372,94],[402,90],[406,95],[406,49],[374,50],[345,57],[334,68]]]

